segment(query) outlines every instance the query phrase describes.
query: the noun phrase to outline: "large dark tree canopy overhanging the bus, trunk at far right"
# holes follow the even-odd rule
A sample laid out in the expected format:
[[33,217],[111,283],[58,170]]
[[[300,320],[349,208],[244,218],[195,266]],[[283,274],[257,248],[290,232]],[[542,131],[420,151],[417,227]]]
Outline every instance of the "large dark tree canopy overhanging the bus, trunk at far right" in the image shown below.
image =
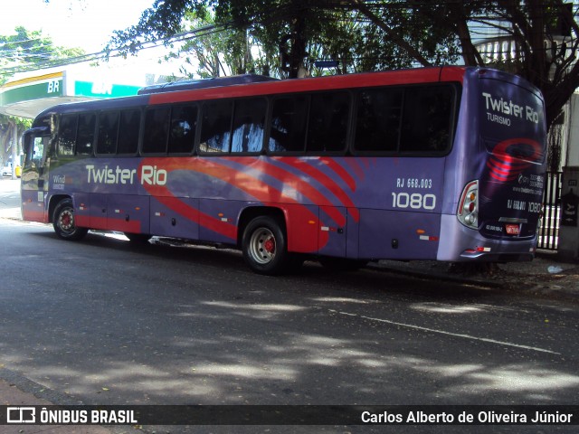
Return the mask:
[[[487,61],[477,48],[482,27],[516,43],[517,59],[495,66],[543,91],[550,127],[579,86],[576,6],[564,0],[156,0],[138,24],[117,33],[111,47],[136,52],[142,41],[179,33],[186,12],[209,7],[216,24],[246,29],[270,52],[277,50],[280,69],[291,78],[302,75],[308,47],[316,41],[332,55],[352,56],[339,61],[354,71],[460,58],[465,65],[482,66]],[[358,24],[349,39],[352,52],[344,50],[344,38],[336,37],[345,29],[336,25],[344,17]]]

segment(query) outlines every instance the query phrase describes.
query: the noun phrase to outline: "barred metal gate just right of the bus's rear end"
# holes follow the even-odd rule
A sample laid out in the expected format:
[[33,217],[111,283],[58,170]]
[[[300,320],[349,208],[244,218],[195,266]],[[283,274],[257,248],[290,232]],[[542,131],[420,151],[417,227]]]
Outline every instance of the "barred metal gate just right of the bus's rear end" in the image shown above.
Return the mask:
[[563,172],[547,172],[543,193],[543,219],[539,228],[537,248],[557,250],[561,213],[561,182]]

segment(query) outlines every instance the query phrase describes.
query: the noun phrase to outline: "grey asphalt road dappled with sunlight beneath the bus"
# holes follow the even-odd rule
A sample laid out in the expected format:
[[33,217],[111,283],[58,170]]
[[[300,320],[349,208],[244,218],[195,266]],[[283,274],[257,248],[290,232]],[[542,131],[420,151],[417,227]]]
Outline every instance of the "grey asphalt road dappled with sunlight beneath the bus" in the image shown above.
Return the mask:
[[0,368],[57,401],[577,403],[579,315],[556,301],[316,264],[261,277],[230,250],[9,219],[0,259]]

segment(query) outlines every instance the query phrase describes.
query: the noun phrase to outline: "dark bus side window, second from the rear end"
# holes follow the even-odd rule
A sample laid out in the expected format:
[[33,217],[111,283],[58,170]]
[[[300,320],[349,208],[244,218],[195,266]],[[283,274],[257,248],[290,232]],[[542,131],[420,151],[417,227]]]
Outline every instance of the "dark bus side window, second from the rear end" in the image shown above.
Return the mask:
[[357,104],[356,151],[395,152],[400,135],[403,90],[383,88],[360,92]]

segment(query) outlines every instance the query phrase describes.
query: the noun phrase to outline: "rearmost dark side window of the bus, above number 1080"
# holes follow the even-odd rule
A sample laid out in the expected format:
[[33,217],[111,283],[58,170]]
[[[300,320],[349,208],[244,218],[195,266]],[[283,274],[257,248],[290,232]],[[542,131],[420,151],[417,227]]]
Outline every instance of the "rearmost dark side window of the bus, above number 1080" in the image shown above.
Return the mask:
[[444,152],[451,143],[453,91],[450,86],[406,89],[400,151]]

